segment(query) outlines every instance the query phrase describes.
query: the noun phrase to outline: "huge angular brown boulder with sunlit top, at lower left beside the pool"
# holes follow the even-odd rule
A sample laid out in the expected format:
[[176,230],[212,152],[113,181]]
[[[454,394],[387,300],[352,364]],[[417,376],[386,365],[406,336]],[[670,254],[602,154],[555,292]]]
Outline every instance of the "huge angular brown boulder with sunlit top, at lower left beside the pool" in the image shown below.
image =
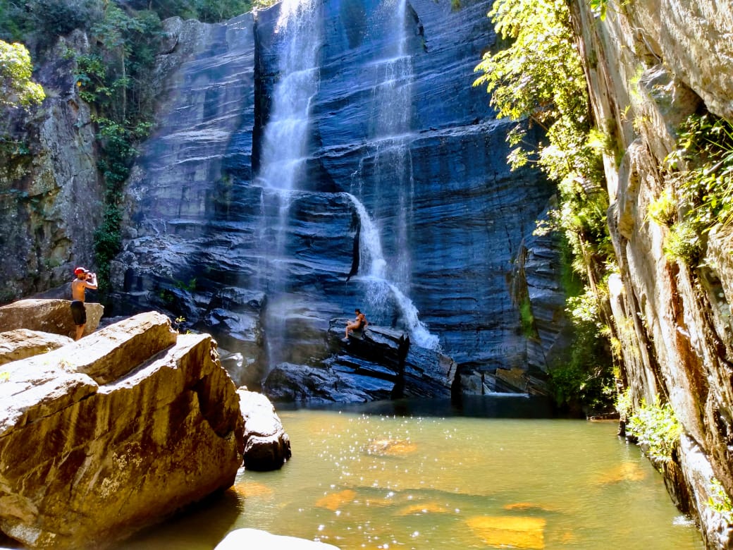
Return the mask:
[[3,366],[0,530],[104,548],[234,483],[243,419],[208,335],[144,313]]

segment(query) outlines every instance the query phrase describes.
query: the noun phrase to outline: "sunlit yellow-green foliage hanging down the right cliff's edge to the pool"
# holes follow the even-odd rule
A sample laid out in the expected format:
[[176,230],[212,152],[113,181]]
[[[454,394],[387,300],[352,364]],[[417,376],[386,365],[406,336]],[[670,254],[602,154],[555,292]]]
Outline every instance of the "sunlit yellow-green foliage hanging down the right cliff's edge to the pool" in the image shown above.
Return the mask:
[[[605,2],[596,2],[599,15]],[[550,368],[550,385],[561,405],[606,408],[615,392],[611,361],[601,334],[608,334],[603,304],[605,279],[614,265],[605,211],[603,134],[594,128],[581,58],[564,0],[497,0],[489,13],[501,35],[476,72],[498,117],[517,121],[508,141],[512,167],[537,164],[557,184],[559,208],[538,231],[559,231],[570,245],[571,263],[584,285],[567,285],[568,311],[576,324],[569,362]],[[539,125],[545,142],[526,141]],[[585,288],[583,288],[583,286]]]

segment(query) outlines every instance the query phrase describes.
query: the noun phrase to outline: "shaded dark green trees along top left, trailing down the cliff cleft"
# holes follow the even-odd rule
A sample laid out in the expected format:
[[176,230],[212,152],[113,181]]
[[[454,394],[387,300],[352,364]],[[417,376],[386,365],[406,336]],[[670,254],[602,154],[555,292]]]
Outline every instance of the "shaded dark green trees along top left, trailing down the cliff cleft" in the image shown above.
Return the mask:
[[[98,129],[105,185],[104,219],[95,231],[101,282],[108,280],[109,262],[120,249],[122,184],[136,158],[136,144],[152,122],[155,98],[149,78],[163,37],[161,20],[178,15],[222,21],[250,9],[250,0],[0,2],[0,38],[26,43],[35,59],[44,59],[59,37],[75,29],[90,39],[88,51],[69,49],[65,57],[73,61],[79,96],[92,107]],[[27,84],[26,89],[33,91]]]

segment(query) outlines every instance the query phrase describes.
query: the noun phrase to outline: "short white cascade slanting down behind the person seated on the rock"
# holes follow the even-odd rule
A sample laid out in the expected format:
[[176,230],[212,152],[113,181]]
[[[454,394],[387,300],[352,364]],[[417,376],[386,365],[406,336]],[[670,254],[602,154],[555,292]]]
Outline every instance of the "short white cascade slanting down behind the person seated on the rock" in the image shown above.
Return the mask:
[[367,265],[367,273],[362,275],[361,268],[356,279],[362,279],[367,285],[367,297],[372,307],[386,307],[389,298],[394,298],[402,323],[410,334],[410,340],[423,348],[435,350],[439,348],[438,337],[420,320],[415,304],[401,290],[386,279],[387,262],[382,254],[382,243],[379,231],[367,213],[367,208],[353,194],[345,193],[353,203],[361,222],[359,232],[359,252],[362,265]]

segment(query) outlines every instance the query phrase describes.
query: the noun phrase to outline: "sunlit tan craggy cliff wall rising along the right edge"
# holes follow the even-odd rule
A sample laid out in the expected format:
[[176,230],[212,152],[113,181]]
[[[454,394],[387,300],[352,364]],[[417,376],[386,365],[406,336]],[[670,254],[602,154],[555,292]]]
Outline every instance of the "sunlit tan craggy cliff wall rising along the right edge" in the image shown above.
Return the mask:
[[[729,548],[733,531],[708,503],[713,478],[733,494],[733,387],[729,304],[732,246],[715,229],[699,265],[664,253],[669,228],[647,216],[674,178],[660,168],[676,148],[676,131],[698,109],[733,110],[730,59],[733,19],[711,0],[608,2],[594,18],[575,2],[594,116],[623,153],[605,158],[608,223],[619,274],[611,306],[633,400],[668,401],[684,433],[664,468],[668,486],[701,524],[707,546]],[[678,472],[676,474],[674,472]]]

